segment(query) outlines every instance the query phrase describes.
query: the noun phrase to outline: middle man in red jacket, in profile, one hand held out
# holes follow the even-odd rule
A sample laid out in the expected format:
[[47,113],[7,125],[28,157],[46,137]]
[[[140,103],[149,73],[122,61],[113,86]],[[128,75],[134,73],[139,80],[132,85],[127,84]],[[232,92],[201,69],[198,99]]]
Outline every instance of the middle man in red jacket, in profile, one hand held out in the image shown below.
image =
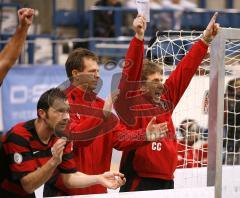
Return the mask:
[[[140,26],[140,23],[137,19],[135,28]],[[98,174],[109,170],[113,148],[131,150],[143,146],[147,144],[146,136],[147,140],[158,139],[161,131],[164,132],[166,128],[165,124],[154,124],[153,117],[144,127],[130,132],[119,123],[116,116],[106,115],[106,112],[103,112],[104,101],[93,92],[100,77],[97,61],[96,55],[91,51],[76,49],[71,52],[65,64],[71,82],[71,86],[66,90],[71,107],[71,123],[70,132],[64,135],[75,140],[73,152],[77,170],[85,174]],[[107,189],[101,185],[67,189],[58,176],[45,185],[44,197],[106,192]]]

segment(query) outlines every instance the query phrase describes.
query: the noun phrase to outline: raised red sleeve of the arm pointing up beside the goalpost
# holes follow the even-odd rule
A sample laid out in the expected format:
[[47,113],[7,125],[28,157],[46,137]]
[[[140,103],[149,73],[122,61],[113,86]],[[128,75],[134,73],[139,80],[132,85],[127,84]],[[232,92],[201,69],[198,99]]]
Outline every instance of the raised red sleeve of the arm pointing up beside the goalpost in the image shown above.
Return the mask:
[[165,85],[174,106],[177,105],[184,94],[192,77],[205,57],[207,49],[208,46],[204,44],[202,40],[196,42],[166,80]]

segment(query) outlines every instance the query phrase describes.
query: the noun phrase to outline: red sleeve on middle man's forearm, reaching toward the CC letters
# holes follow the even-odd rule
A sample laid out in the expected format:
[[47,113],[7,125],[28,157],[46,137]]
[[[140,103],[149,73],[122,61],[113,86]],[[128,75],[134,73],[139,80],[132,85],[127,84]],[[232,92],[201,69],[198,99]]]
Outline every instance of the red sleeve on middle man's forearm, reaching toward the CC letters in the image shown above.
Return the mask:
[[129,130],[119,124],[113,131],[113,147],[117,150],[133,150],[147,143],[146,129]]

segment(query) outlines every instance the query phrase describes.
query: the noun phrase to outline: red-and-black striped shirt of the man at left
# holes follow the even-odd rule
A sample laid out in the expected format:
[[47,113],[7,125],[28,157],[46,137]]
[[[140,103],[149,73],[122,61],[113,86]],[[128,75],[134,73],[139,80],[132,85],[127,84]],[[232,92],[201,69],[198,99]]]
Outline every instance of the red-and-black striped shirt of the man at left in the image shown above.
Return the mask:
[[[43,143],[36,132],[34,120],[15,125],[3,136],[3,153],[6,157],[7,173],[0,189],[11,197],[35,197],[28,194],[21,185],[21,178],[43,166],[51,157],[51,147],[58,140],[53,135],[48,144]],[[62,173],[76,172],[72,157],[72,143],[68,143],[63,153],[62,163],[57,167]]]

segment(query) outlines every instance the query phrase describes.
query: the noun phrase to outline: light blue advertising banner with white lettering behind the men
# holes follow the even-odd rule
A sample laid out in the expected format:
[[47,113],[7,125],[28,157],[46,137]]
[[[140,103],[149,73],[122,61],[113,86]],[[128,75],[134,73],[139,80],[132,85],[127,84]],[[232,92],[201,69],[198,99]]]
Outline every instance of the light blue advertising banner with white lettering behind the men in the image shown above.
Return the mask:
[[[101,81],[97,91],[101,98],[106,98],[110,94],[111,86],[117,86],[117,81],[112,77],[120,71],[118,66],[110,70],[105,69],[103,65],[100,66]],[[18,122],[35,118],[36,103],[44,91],[68,84],[63,66],[14,67],[2,85],[3,131]]]

